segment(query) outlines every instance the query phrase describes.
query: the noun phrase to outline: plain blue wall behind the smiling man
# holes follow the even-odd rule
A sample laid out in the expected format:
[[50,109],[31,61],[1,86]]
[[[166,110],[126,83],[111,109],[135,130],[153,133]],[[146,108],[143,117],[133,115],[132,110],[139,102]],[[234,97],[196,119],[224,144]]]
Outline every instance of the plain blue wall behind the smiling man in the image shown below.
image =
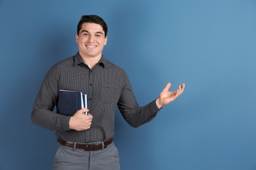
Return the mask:
[[116,114],[121,169],[256,169],[256,1],[0,1],[0,169],[51,169],[53,131],[30,120],[54,63],[77,52],[83,14],[109,27],[104,56],[146,105],[181,97],[137,129]]

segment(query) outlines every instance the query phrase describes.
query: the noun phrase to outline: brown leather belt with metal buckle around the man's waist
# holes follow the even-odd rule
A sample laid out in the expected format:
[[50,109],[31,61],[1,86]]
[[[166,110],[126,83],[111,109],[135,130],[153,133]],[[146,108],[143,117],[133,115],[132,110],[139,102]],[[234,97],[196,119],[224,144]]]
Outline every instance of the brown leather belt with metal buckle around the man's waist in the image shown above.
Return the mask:
[[84,150],[87,150],[87,151],[104,149],[109,144],[112,144],[112,142],[113,142],[113,138],[109,139],[108,141],[105,141],[104,145],[102,143],[101,144],[72,143],[72,142],[64,141],[63,139],[58,139],[58,143],[60,143],[64,146],[68,146],[68,147],[71,147],[71,148],[75,147],[75,148],[84,149]]

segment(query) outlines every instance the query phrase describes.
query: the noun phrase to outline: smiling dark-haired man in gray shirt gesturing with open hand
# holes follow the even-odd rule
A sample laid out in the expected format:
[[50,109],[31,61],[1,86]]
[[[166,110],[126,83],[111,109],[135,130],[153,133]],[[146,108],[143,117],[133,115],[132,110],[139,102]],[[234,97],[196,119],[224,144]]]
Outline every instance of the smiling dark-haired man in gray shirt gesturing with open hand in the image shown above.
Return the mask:
[[[75,36],[79,52],[50,69],[35,99],[32,122],[56,131],[58,138],[53,169],[119,169],[113,143],[116,105],[128,124],[139,127],[185,88],[181,84],[169,92],[168,83],[157,99],[139,107],[125,71],[102,56],[107,33],[102,18],[82,16]],[[59,90],[86,93],[88,109],[77,110],[73,116],[60,114]],[[57,114],[53,112],[55,105]]]

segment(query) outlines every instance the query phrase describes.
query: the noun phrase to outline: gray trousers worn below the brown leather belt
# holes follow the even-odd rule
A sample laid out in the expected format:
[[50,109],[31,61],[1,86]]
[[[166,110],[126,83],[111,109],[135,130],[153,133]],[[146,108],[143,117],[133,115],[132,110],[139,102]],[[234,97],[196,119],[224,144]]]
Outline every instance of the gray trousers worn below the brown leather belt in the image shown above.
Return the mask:
[[119,154],[114,143],[104,150],[87,151],[57,144],[53,170],[119,170]]

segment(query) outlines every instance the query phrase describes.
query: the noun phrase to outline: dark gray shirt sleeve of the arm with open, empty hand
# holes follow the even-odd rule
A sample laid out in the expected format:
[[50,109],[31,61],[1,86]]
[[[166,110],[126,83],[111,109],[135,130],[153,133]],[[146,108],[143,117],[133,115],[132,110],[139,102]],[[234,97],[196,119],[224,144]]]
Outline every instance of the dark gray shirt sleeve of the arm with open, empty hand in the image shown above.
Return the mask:
[[142,124],[150,122],[160,111],[156,105],[156,99],[143,107],[138,105],[131,88],[131,83],[125,72],[123,74],[123,90],[117,106],[123,118],[132,127],[139,127]]

